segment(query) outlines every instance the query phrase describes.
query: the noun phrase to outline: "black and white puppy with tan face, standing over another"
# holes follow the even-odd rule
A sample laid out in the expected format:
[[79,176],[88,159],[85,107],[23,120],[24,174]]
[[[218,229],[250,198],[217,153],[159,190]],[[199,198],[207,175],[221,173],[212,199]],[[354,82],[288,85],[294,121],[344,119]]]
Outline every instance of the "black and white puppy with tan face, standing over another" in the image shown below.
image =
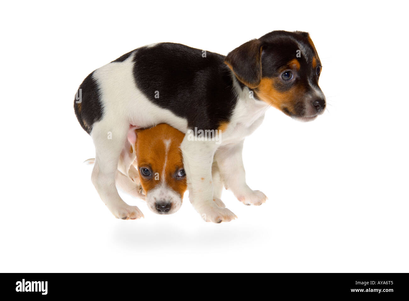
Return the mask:
[[220,195],[213,191],[213,160],[237,199],[265,202],[263,192],[245,182],[243,140],[270,106],[304,121],[323,113],[320,72],[306,32],[270,32],[227,57],[175,43],[128,52],[88,75],[74,100],[95,145],[92,183],[115,217],[138,215],[115,187],[117,169],[132,164],[123,151],[129,149],[127,134],[167,123],[186,133],[181,149],[191,204],[206,221],[229,222],[236,215],[213,201],[213,193]]

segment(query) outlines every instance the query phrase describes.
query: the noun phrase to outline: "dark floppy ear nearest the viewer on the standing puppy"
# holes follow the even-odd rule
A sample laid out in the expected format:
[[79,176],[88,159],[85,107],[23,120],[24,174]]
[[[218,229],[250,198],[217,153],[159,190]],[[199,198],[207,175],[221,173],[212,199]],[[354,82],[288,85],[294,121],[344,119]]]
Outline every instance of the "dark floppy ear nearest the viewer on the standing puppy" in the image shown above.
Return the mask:
[[262,42],[254,39],[238,46],[225,58],[225,64],[237,79],[251,89],[261,81],[261,48]]

